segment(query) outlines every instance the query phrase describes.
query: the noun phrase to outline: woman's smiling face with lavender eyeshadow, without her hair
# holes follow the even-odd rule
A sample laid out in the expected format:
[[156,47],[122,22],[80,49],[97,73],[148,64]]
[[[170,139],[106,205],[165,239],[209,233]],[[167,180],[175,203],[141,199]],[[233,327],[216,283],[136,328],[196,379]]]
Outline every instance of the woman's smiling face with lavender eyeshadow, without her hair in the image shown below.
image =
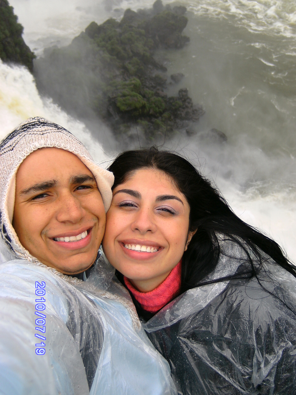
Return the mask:
[[103,249],[110,263],[141,292],[156,288],[182,258],[189,204],[162,171],[139,169],[114,188]]

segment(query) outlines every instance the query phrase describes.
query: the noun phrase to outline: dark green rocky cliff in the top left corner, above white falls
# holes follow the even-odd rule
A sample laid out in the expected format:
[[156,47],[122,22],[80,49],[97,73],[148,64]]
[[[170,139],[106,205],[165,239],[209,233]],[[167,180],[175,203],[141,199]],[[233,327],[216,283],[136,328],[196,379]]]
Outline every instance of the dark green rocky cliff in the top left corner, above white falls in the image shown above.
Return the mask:
[[9,6],[7,0],[0,0],[0,59],[22,64],[33,71],[35,55],[22,38],[23,30],[13,13],[13,7]]

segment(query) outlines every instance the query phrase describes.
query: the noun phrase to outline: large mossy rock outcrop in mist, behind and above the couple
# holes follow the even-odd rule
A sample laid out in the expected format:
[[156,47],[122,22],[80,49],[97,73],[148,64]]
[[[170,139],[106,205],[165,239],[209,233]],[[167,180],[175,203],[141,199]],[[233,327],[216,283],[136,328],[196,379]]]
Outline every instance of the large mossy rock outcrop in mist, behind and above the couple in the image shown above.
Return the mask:
[[185,11],[157,0],[150,10],[127,9],[121,21],[92,22],[68,47],[35,61],[38,88],[79,117],[93,111],[116,136],[139,126],[151,141],[185,128],[202,109],[187,90],[167,97],[167,70],[154,58],[156,49],[178,49],[189,40],[182,35]]

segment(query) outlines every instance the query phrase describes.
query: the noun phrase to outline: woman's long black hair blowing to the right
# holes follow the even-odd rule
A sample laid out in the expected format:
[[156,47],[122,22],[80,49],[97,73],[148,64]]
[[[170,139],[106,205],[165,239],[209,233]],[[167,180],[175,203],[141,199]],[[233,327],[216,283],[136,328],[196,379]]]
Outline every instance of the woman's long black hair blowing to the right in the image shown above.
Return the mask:
[[293,265],[279,245],[238,218],[217,188],[178,154],[157,147],[123,152],[108,168],[115,177],[113,188],[125,182],[134,171],[146,167],[168,174],[189,203],[189,231],[195,231],[195,234],[182,258],[182,292],[211,282],[206,278],[214,271],[221,254],[221,235],[245,252],[249,264],[239,276],[257,276],[256,268],[270,257],[296,277]]

